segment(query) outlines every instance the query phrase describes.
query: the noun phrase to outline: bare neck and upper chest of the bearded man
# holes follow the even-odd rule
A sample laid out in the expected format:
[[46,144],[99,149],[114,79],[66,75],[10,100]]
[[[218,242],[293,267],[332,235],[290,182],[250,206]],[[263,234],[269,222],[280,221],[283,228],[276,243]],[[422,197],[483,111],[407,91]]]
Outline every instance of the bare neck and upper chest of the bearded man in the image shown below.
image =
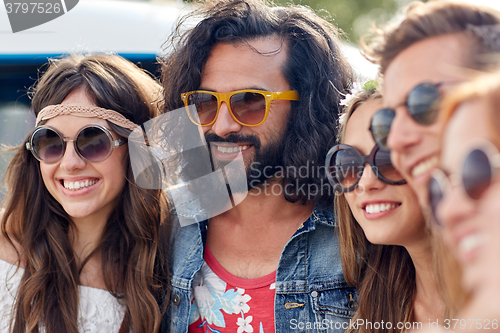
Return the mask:
[[210,219],[207,246],[229,273],[265,276],[277,269],[283,248],[313,207],[288,202],[269,188],[249,192],[236,207]]

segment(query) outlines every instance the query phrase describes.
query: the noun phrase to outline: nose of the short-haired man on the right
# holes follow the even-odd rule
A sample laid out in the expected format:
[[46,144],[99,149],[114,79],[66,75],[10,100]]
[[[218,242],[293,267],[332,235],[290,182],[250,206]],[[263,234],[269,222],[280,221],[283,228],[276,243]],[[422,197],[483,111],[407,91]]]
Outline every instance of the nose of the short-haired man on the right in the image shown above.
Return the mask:
[[396,154],[402,154],[418,145],[422,140],[421,126],[411,118],[404,107],[400,107],[396,110],[387,138],[389,149]]

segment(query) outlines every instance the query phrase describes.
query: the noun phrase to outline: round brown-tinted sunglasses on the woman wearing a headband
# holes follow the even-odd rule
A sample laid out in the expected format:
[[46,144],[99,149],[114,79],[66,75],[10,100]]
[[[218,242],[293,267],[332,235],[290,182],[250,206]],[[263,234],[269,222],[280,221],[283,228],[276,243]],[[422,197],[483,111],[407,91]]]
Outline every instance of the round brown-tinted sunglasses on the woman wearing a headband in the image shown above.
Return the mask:
[[64,137],[51,126],[38,126],[26,142],[26,149],[31,150],[41,162],[52,164],[60,161],[66,152],[66,141],[73,141],[75,151],[89,162],[102,162],[111,155],[113,149],[123,145],[126,139],[114,140],[111,132],[104,126],[89,124],[81,128],[74,139]]

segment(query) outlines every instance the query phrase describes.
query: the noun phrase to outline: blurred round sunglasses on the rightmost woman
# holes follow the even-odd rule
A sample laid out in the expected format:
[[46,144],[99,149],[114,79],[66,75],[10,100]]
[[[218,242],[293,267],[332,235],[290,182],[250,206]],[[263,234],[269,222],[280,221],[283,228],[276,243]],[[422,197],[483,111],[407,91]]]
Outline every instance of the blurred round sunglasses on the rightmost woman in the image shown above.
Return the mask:
[[483,143],[472,148],[463,160],[460,173],[448,176],[443,170],[434,170],[429,182],[429,203],[434,221],[437,218],[437,208],[446,193],[454,186],[461,186],[467,196],[479,200],[491,185],[492,179],[500,169],[500,154],[490,143]]

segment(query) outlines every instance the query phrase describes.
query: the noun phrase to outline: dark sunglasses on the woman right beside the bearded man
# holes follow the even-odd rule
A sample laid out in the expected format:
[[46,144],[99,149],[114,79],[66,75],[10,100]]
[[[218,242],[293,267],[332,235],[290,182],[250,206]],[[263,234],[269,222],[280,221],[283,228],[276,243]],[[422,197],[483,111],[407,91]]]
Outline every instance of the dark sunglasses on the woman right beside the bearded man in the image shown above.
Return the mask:
[[389,151],[375,145],[369,155],[363,156],[356,148],[345,144],[332,147],[326,156],[325,169],[330,184],[338,192],[353,191],[358,187],[366,163],[382,182],[389,185],[406,184],[392,165]]

